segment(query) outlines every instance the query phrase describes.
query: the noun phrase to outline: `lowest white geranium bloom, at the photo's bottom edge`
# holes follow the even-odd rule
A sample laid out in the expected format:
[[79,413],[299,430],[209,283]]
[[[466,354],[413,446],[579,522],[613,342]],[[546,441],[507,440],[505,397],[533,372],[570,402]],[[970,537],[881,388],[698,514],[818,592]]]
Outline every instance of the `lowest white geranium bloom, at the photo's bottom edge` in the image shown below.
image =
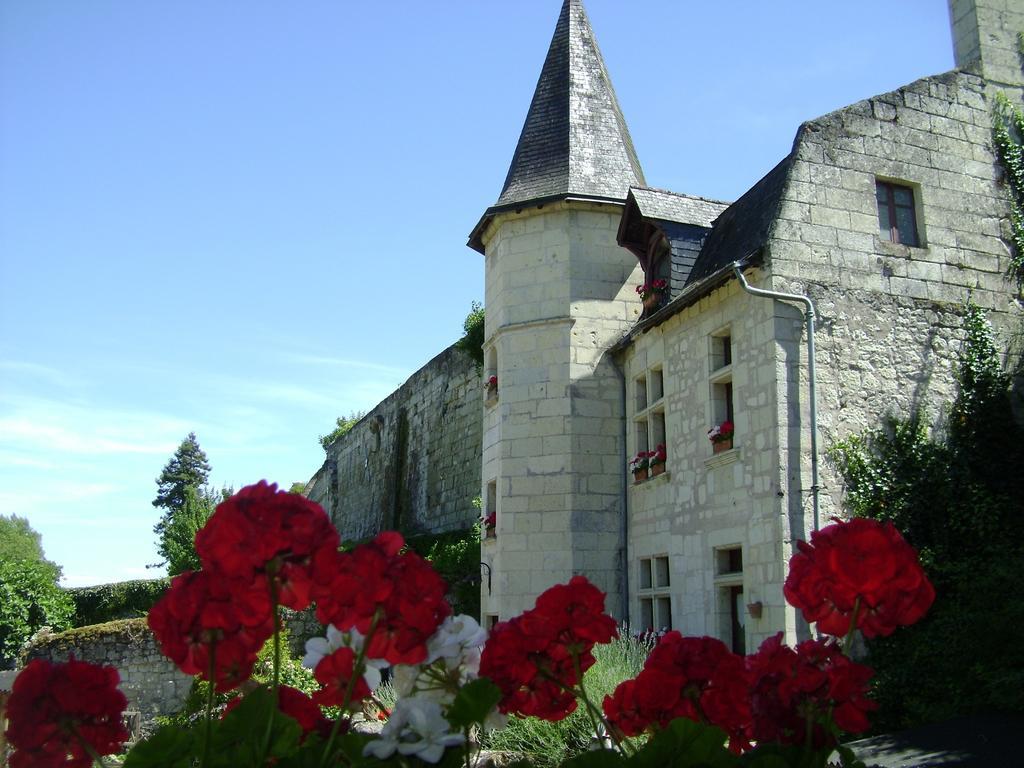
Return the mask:
[[463,734],[449,733],[449,722],[441,714],[440,705],[414,696],[398,699],[380,738],[362,748],[362,756],[386,760],[397,751],[399,755],[415,755],[420,760],[436,763],[444,750],[463,741]]

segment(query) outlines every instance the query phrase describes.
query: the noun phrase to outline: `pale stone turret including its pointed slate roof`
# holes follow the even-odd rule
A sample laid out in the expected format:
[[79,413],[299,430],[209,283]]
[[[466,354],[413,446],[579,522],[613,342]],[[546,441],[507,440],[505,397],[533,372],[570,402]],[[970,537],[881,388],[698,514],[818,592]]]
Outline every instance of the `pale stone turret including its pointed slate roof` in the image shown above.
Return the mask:
[[484,379],[498,378],[483,417],[490,621],[575,573],[621,609],[624,390],[607,349],[640,307],[615,232],[643,183],[583,4],[565,0],[505,184],[469,241],[486,260]]

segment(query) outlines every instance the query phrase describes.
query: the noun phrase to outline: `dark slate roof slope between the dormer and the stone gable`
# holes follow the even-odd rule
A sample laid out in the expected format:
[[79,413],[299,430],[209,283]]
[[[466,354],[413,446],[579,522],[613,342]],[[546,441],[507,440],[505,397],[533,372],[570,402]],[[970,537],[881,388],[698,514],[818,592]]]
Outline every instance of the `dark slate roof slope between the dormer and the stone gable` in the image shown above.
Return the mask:
[[768,171],[739,200],[725,209],[705,239],[687,285],[760,250],[778,213],[793,155]]

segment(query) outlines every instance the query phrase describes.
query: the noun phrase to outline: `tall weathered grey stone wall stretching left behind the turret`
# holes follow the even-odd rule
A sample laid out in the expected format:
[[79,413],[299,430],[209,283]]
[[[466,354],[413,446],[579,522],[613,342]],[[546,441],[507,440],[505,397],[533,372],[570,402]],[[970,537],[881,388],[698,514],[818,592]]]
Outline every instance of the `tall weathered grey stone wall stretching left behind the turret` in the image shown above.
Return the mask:
[[479,514],[482,401],[476,364],[449,347],[330,445],[306,496],[346,541],[469,527]]

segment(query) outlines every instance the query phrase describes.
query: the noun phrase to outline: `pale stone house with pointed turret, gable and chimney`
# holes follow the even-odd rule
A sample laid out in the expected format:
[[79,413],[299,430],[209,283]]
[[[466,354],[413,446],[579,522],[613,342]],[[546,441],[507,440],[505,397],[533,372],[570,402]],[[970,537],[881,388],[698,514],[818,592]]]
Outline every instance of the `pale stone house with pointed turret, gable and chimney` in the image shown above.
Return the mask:
[[[949,14],[955,70],[804,123],[727,203],[645,185],[583,4],[564,0],[469,240],[498,380],[473,489],[496,517],[487,621],[583,573],[634,629],[737,650],[806,634],[781,587],[794,542],[840,510],[824,451],[889,413],[939,416],[969,298],[1002,334],[1021,318],[991,108],[1024,90],[1024,0]],[[645,307],[637,288],[658,281]],[[659,473],[635,479],[630,459],[658,445]]]

